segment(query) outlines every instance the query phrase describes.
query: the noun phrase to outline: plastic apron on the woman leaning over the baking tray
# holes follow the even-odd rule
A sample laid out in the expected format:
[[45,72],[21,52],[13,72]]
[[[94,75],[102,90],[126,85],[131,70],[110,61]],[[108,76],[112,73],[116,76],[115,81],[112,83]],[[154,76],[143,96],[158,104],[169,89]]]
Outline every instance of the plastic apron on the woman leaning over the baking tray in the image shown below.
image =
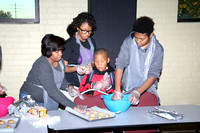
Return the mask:
[[[54,76],[54,82],[57,87],[56,89],[60,89],[63,79],[64,79],[64,64],[62,60],[60,60],[58,64],[60,65],[61,71],[58,71],[53,66],[51,66],[52,71],[53,71],[53,76]],[[36,85],[36,86],[43,89],[44,107],[47,109],[47,111],[58,110],[59,103],[57,103],[51,97],[49,97],[47,91],[44,89],[43,86],[40,86],[40,85]]]

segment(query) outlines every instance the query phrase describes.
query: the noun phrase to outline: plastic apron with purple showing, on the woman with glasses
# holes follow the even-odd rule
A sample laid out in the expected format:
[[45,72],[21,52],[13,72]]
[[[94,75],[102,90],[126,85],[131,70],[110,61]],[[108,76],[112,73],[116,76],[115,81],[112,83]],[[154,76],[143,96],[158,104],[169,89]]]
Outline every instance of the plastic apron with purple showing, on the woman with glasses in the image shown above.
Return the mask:
[[[83,47],[80,39],[78,38],[78,32],[76,32],[76,42],[80,45],[80,57],[78,59],[78,64],[82,66],[86,66],[87,64],[90,64],[94,56],[94,46],[92,44],[92,41],[90,38],[88,38],[87,40],[90,44],[90,49]],[[78,76],[79,82],[81,82],[83,75],[79,75],[77,73],[77,76]]]

